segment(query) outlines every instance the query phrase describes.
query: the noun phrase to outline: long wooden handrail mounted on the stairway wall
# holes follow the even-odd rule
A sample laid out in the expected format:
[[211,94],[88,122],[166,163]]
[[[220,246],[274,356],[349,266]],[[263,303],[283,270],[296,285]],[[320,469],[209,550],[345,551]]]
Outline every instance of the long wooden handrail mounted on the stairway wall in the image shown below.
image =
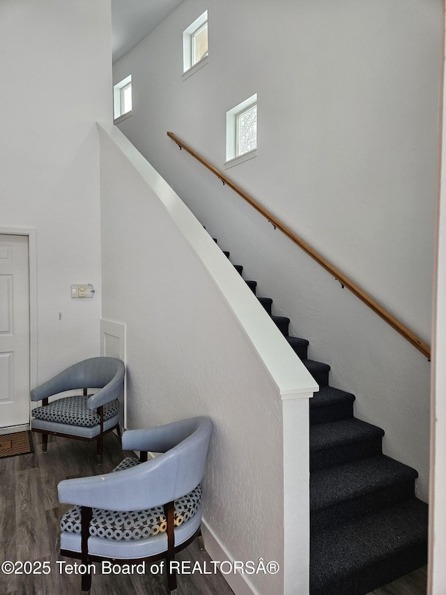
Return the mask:
[[325,271],[328,271],[330,275],[332,275],[336,280],[341,283],[343,287],[346,287],[349,291],[352,292],[357,298],[359,298],[362,302],[364,302],[371,310],[373,310],[379,317],[381,317],[387,324],[392,326],[392,329],[397,331],[401,336],[403,336],[408,342],[411,343],[414,347],[418,349],[427,359],[431,359],[431,347],[427,345],[424,341],[420,339],[415,333],[410,331],[402,322],[400,322],[397,318],[395,318],[390,312],[387,312],[383,306],[381,306],[377,301],[375,301],[369,294],[364,292],[360,287],[355,285],[353,281],[351,281],[348,277],[341,273],[339,269],[333,266],[328,260],[326,260],[323,256],[321,256],[316,250],[314,250],[307,242],[302,240],[299,236],[297,236],[294,232],[286,227],[281,221],[279,221],[272,213],[267,211],[263,208],[259,203],[257,203],[252,197],[250,197],[244,190],[242,190],[237,184],[233,183],[229,178],[227,178],[222,172],[217,170],[216,167],[210,165],[206,159],[201,157],[199,153],[196,153],[193,149],[190,148],[185,142],[180,140],[174,133],[168,132],[167,136],[174,140],[176,144],[180,147],[180,149],[184,149],[187,153],[190,153],[192,157],[197,159],[202,165],[208,168],[210,172],[213,172],[218,179],[220,179],[226,186],[229,186],[234,192],[240,195],[246,202],[249,202],[251,206],[259,211],[263,217],[268,219],[272,225],[280,229],[280,231],[285,234],[289,239],[291,239],[295,244],[302,248],[307,255],[311,256],[318,264],[320,264]]

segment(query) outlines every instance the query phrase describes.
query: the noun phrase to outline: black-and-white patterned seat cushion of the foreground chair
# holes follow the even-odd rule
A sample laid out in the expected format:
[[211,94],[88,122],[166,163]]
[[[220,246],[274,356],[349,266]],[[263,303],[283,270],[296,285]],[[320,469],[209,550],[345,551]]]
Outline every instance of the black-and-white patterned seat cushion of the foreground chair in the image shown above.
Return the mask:
[[[139,460],[125,458],[113,472],[123,471],[139,465]],[[174,506],[174,523],[179,527],[190,520],[201,503],[201,485],[192,490],[189,494],[178,498]],[[68,533],[81,532],[81,507],[73,506],[61,518],[61,530]],[[108,539],[141,539],[162,533],[167,530],[167,520],[164,515],[163,506],[155,506],[153,509],[144,511],[107,511],[93,509],[93,517],[90,522],[90,535],[105,537]]]

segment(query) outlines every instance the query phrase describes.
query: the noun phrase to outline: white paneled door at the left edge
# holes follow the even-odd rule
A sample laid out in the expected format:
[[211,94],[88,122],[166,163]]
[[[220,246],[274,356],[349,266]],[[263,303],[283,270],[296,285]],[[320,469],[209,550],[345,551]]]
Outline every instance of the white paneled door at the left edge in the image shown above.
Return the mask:
[[0,428],[29,423],[29,239],[0,234]]

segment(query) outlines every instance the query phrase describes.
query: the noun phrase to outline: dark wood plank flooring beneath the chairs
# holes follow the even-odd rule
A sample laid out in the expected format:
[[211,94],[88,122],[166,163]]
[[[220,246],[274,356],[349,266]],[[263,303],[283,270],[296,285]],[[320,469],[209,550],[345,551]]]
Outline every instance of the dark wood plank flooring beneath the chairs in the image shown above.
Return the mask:
[[[104,456],[95,462],[95,444],[50,437],[48,452],[42,453],[40,436],[33,435],[34,452],[0,459],[0,562],[20,560],[49,562],[51,573],[6,575],[0,572],[1,595],[79,595],[80,576],[59,572],[56,560],[75,561],[59,553],[59,522],[70,508],[59,504],[57,484],[72,476],[107,473],[124,456],[114,434],[105,436]],[[210,561],[197,540],[176,555],[178,560]],[[169,595],[162,574],[93,576],[94,595]],[[178,576],[176,595],[233,595],[220,573]],[[275,595],[275,594],[271,594]],[[300,594],[295,594],[300,595]],[[376,589],[369,595],[426,595],[426,568]]]

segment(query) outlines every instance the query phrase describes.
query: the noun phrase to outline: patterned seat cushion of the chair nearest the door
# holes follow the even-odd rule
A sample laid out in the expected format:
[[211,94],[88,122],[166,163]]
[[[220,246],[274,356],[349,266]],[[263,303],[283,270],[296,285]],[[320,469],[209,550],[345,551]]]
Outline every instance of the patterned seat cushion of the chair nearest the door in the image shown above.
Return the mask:
[[[42,405],[33,409],[32,415],[36,419],[45,421],[56,421],[57,423],[70,423],[70,425],[82,425],[84,428],[93,428],[100,423],[99,414],[94,409],[88,409],[87,399],[91,395],[75,395],[63,399],[57,399],[49,405]],[[119,410],[119,401],[116,399],[104,405],[104,421],[112,419]]]

